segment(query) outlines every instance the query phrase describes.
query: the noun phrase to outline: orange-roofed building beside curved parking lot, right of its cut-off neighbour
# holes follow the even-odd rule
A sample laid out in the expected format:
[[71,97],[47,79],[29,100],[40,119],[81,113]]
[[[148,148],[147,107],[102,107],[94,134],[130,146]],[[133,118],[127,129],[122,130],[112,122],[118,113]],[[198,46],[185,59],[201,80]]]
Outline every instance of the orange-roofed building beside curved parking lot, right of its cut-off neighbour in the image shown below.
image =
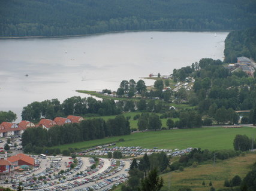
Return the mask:
[[9,158],[7,158],[7,161],[11,162],[11,165],[13,165],[14,167],[21,165],[28,165],[34,167],[35,165],[35,159],[28,155],[24,155],[23,153],[10,156]]

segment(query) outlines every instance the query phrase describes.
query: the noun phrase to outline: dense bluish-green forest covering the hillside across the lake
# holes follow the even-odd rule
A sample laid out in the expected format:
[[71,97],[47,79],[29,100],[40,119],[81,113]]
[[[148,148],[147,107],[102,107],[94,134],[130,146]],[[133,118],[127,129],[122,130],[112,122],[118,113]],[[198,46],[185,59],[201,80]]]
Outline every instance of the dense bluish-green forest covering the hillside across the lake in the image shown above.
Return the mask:
[[254,0],[4,0],[0,13],[0,36],[232,30],[256,24]]

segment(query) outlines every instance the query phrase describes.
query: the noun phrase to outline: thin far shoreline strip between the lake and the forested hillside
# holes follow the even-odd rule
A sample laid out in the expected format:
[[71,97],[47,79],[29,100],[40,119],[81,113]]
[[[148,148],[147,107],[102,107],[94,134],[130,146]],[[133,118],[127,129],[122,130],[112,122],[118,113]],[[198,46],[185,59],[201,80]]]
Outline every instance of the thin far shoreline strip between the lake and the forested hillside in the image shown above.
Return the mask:
[[97,35],[107,35],[111,33],[126,33],[126,32],[231,32],[233,30],[182,30],[182,29],[170,29],[170,30],[120,30],[120,31],[110,31],[103,33],[91,33],[85,35],[60,35],[60,36],[0,36],[0,39],[43,39],[43,38],[71,38],[71,37],[84,37],[84,36],[97,36]]

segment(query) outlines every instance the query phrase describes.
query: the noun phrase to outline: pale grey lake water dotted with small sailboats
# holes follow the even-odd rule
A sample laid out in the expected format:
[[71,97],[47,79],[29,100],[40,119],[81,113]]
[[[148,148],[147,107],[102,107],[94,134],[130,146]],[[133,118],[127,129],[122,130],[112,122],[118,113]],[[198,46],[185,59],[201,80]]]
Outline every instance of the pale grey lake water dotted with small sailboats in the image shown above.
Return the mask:
[[[124,32],[72,38],[0,39],[0,110],[32,101],[116,90],[123,79],[170,75],[200,58],[223,60],[228,32]],[[28,76],[25,76],[28,75]],[[146,80],[147,85],[153,81]]]

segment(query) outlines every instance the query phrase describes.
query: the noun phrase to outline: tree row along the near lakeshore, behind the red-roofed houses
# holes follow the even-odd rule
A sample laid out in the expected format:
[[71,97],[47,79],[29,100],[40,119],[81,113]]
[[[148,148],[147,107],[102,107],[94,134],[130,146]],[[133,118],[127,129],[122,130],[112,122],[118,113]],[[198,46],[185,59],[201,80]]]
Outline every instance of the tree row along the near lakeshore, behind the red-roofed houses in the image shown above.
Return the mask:
[[92,97],[74,96],[62,103],[58,99],[34,101],[23,107],[22,119],[38,122],[41,118],[54,119],[57,116],[68,115],[119,115],[123,110],[122,107],[110,99],[96,100]]

